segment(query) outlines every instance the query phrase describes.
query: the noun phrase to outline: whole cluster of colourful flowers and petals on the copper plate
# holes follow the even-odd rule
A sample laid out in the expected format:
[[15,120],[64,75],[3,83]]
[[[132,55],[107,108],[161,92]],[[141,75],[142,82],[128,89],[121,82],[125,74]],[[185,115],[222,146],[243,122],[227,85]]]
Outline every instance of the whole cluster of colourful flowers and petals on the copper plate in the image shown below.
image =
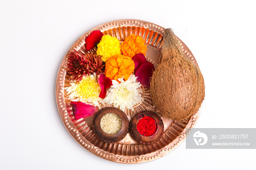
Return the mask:
[[[145,40],[138,35],[124,42],[116,37],[93,31],[85,39],[85,55],[74,50],[68,55],[65,87],[75,119],[94,115],[102,105],[112,105],[122,111],[143,101],[141,86],[150,86],[154,65],[145,54]],[[93,50],[94,49],[94,50]]]

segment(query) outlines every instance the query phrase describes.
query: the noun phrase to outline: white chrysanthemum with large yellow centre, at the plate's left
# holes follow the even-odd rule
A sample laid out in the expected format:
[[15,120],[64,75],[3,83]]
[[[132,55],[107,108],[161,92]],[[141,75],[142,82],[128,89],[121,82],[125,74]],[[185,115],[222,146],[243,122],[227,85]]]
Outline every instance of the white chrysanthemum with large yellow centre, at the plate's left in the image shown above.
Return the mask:
[[83,76],[80,82],[71,81],[71,86],[65,88],[67,91],[68,99],[71,101],[81,101],[83,103],[91,104],[99,107],[99,93],[101,88],[97,82],[95,73],[90,76]]

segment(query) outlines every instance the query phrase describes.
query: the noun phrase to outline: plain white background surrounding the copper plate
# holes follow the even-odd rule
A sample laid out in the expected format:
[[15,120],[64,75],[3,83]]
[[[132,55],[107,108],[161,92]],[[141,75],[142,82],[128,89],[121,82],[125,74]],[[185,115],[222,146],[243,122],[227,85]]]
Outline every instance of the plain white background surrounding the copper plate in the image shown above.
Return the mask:
[[65,128],[55,98],[69,47],[113,20],[139,19],[176,35],[206,85],[197,128],[255,128],[255,4],[227,0],[2,1],[0,5],[0,169],[253,169],[255,150],[176,150],[126,165],[99,158]]

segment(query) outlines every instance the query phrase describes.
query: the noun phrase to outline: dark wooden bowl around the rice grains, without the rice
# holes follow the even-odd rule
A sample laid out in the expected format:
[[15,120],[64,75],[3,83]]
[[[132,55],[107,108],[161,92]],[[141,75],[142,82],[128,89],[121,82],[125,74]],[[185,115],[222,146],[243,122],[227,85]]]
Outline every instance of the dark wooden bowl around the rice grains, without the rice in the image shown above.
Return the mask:
[[[107,113],[114,113],[117,116],[119,116],[121,119],[121,122],[122,122],[121,128],[115,134],[107,134],[101,128],[101,119]],[[114,108],[114,107],[102,108],[95,114],[95,116],[93,118],[93,132],[94,132],[95,136],[97,136],[103,142],[116,143],[116,142],[124,139],[124,137],[128,133],[128,130],[129,130],[129,120],[128,120],[127,116],[125,115],[125,113],[118,108]]]

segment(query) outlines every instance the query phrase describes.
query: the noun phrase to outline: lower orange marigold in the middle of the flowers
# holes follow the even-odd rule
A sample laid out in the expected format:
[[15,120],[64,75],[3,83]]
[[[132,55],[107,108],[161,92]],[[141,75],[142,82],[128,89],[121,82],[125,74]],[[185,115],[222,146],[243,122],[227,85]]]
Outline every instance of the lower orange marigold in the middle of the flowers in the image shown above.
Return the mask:
[[130,57],[126,57],[121,54],[113,55],[106,62],[105,75],[111,80],[118,81],[118,78],[124,76],[124,80],[127,80],[131,74],[133,74],[135,65]]

